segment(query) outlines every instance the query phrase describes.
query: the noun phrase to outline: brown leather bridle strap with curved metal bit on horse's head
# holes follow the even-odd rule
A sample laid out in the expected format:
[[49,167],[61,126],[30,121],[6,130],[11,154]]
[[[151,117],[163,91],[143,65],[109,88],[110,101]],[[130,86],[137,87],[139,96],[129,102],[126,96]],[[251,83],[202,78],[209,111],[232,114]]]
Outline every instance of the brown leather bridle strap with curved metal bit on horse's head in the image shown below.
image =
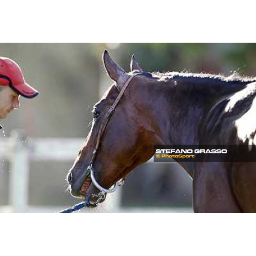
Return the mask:
[[90,160],[90,163],[89,163],[89,166],[87,167],[87,172],[88,172],[88,175],[90,174],[90,177],[91,177],[91,180],[94,184],[94,186],[96,186],[100,192],[98,195],[92,195],[93,197],[97,197],[98,200],[96,201],[96,204],[101,200],[101,199],[104,199],[105,198],[105,193],[112,193],[114,192],[116,189],[117,189],[117,185],[118,186],[122,186],[123,183],[124,183],[124,180],[121,179],[119,180],[117,183],[118,184],[114,184],[114,187],[113,189],[105,189],[103,188],[102,186],[99,185],[99,183],[96,181],[95,179],[95,176],[94,176],[94,169],[93,169],[93,162],[95,160],[95,157],[97,155],[97,152],[98,152],[98,149],[99,149],[99,145],[100,145],[100,142],[101,142],[101,139],[102,139],[102,134],[103,132],[105,131],[105,128],[108,124],[108,121],[109,119],[111,118],[111,115],[113,114],[113,112],[115,111],[116,109],[116,105],[118,104],[118,102],[120,101],[120,99],[122,98],[122,95],[124,94],[126,88],[128,87],[128,85],[131,83],[132,79],[134,79],[135,76],[137,75],[141,75],[141,73],[136,73],[134,74],[133,76],[130,76],[126,81],[125,81],[125,84],[122,86],[122,89],[120,90],[119,92],[119,95],[117,96],[116,100],[114,101],[113,105],[108,109],[108,112],[105,114],[105,116],[103,117],[103,121],[102,121],[102,124],[99,128],[99,135],[97,137],[97,140],[96,140],[96,145],[95,145],[95,148],[93,149],[93,155],[92,155],[92,158]]

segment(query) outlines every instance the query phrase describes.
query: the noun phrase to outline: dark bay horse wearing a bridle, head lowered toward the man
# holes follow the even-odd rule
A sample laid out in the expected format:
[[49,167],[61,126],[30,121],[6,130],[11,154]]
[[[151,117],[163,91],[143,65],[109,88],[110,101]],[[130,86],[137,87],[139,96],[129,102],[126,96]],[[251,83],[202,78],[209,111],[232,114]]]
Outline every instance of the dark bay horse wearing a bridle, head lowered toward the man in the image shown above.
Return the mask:
[[[94,105],[90,133],[67,175],[71,195],[87,205],[122,185],[153,156],[153,145],[248,145],[243,153],[254,154],[256,79],[148,73],[134,56],[125,73],[106,50],[103,63],[114,83]],[[176,161],[193,180],[194,212],[256,212],[255,162]]]

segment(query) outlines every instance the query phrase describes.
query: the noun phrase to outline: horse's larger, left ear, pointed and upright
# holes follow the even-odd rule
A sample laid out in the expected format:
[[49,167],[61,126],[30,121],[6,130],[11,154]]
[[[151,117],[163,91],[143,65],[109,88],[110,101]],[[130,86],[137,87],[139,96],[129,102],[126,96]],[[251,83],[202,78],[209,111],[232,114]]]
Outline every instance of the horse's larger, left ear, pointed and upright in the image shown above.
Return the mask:
[[116,81],[117,86],[122,86],[129,76],[125,73],[122,67],[112,60],[107,50],[105,50],[103,53],[103,63],[105,69],[107,70],[108,76]]

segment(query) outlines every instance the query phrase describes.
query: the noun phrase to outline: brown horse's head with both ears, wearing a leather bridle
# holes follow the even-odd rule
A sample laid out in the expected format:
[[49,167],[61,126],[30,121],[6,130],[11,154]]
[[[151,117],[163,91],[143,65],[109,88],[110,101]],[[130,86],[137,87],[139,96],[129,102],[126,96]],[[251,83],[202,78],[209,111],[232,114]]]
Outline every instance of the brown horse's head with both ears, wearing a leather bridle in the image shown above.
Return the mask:
[[150,110],[145,108],[148,99],[143,93],[150,79],[143,75],[134,55],[130,73],[125,73],[106,50],[103,63],[114,83],[94,105],[91,130],[67,175],[71,194],[85,197],[91,205],[105,200],[105,196],[97,196],[101,188],[109,191],[152,157],[153,145],[158,142],[154,122],[147,121]]

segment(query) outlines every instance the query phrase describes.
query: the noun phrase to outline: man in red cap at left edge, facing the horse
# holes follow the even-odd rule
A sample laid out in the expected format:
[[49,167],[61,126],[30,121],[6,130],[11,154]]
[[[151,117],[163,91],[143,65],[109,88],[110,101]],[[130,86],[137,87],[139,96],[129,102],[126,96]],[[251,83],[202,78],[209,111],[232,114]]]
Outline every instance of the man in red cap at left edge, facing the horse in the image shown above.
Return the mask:
[[38,94],[37,90],[25,82],[17,63],[0,57],[0,119],[6,118],[13,109],[20,108],[20,95],[31,99]]

